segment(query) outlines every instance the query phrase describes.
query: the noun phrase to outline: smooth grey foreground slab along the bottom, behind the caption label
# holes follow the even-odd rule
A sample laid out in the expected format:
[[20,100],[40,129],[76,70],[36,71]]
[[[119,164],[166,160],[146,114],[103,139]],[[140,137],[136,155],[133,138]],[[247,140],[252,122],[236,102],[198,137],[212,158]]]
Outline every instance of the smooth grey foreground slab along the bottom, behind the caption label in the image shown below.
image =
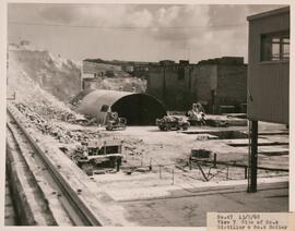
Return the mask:
[[139,226],[204,227],[208,211],[287,211],[288,184],[259,184],[257,193],[247,193],[244,186],[236,185],[231,192],[208,190],[206,194],[120,204],[131,214],[137,211],[129,219]]

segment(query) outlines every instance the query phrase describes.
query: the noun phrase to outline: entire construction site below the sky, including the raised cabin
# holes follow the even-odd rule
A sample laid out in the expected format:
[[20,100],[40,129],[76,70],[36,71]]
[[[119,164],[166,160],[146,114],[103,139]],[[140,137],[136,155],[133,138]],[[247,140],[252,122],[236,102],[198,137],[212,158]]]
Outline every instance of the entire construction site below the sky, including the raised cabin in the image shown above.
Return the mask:
[[288,16],[248,17],[248,66],[225,57],[131,69],[9,45],[5,226],[204,227],[208,211],[287,211],[290,35],[263,70],[253,50],[260,23],[290,33]]

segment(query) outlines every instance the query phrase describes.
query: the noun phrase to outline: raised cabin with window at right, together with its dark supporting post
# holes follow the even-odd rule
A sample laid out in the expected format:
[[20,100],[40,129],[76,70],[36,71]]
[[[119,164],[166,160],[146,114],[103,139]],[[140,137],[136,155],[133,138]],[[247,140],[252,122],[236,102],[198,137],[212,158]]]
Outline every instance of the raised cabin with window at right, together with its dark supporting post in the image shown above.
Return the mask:
[[256,14],[249,21],[248,192],[257,191],[258,121],[288,124],[290,8]]

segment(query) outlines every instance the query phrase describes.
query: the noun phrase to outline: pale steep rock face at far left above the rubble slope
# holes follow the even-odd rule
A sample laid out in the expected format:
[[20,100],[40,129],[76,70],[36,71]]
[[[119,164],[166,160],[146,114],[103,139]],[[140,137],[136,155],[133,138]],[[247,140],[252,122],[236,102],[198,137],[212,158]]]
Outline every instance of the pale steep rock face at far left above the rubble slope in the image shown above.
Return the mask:
[[63,102],[70,101],[80,92],[81,65],[48,51],[10,49],[9,77],[13,77],[11,73],[16,70],[19,78],[26,75]]

